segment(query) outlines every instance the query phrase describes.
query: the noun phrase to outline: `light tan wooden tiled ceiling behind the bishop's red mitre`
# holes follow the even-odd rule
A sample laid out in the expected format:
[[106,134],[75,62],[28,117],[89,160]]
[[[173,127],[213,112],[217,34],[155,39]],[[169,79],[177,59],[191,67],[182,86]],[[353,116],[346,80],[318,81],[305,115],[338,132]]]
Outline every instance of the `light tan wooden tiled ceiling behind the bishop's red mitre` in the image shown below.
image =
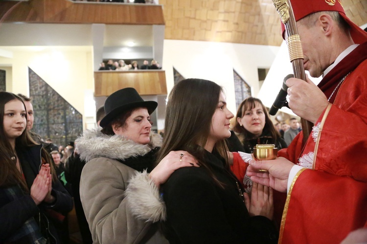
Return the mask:
[[[367,23],[367,0],[342,3],[353,22]],[[160,0],[160,4],[167,23],[165,39],[276,46],[283,41],[272,0]]]

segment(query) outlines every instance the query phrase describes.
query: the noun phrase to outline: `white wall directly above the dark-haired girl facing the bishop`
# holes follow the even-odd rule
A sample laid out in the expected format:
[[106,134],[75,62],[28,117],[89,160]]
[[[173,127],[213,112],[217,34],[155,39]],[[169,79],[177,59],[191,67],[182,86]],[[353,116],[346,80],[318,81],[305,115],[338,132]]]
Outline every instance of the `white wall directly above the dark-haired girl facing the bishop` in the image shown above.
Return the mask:
[[164,40],[162,68],[168,93],[174,85],[175,67],[185,78],[211,80],[223,86],[229,110],[235,113],[233,69],[251,86],[252,96],[257,96],[257,69],[270,68],[278,50],[278,46]]

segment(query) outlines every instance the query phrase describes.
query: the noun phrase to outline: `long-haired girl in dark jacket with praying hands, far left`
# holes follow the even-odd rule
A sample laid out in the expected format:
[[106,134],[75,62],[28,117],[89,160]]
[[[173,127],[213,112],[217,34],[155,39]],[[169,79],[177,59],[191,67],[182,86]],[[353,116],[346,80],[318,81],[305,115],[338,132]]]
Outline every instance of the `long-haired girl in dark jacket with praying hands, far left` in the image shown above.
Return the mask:
[[62,219],[72,199],[28,135],[26,114],[22,98],[0,92],[0,243],[57,244],[51,219]]

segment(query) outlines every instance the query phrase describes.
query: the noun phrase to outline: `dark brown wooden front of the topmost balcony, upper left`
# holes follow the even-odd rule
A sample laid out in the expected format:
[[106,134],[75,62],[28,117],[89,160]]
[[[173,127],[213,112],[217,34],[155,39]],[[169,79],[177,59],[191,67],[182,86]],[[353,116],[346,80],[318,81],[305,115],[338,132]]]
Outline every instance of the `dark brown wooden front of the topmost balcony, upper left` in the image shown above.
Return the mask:
[[[0,18],[14,4],[0,1]],[[4,22],[164,24],[164,17],[161,5],[29,0],[19,3]]]

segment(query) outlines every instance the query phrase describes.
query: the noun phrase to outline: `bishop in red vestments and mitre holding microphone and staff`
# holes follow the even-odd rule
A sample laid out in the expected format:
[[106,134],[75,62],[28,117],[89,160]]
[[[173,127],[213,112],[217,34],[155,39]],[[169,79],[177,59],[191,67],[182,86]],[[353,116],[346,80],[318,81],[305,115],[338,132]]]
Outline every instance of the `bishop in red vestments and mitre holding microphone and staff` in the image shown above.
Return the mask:
[[367,227],[367,33],[340,0],[291,3],[304,67],[323,79],[289,79],[289,106],[315,126],[303,147],[301,132],[275,160],[251,160],[247,174],[287,192],[279,243],[340,243]]

